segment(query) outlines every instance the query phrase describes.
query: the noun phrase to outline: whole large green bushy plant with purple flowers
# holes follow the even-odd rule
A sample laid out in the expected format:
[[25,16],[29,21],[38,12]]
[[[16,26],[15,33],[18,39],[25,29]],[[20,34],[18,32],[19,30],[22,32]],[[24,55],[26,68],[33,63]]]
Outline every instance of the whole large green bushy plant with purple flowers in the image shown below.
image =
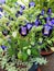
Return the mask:
[[0,3],[0,48],[10,58],[30,61],[40,57],[41,48],[53,46],[54,13],[51,8],[46,11],[35,0],[26,3],[3,0]]

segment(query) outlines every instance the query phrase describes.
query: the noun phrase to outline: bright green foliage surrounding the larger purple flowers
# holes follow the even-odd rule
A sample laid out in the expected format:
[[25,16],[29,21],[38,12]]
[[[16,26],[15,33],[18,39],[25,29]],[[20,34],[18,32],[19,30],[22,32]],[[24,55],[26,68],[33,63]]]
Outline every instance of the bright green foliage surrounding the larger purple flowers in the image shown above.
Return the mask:
[[[24,1],[22,0],[24,3]],[[4,45],[8,47],[8,52],[10,57],[13,55],[17,56],[18,58],[22,59],[25,61],[29,59],[29,56],[37,57],[40,48],[45,48],[47,45],[52,46],[53,44],[53,33],[52,35],[47,38],[43,36],[42,34],[42,28],[43,25],[45,24],[45,20],[43,17],[48,17],[48,15],[40,15],[40,21],[41,25],[36,26],[34,23],[37,20],[37,15],[41,13],[41,9],[39,9],[36,5],[40,4],[41,8],[44,5],[41,5],[42,3],[46,2],[43,0],[34,0],[36,2],[35,7],[29,8],[30,1],[26,1],[26,4],[21,4],[20,1],[18,0],[7,0],[6,4],[2,4],[1,8],[3,9],[3,16],[0,19],[0,46]],[[50,1],[48,1],[50,2]],[[14,3],[14,5],[12,4]],[[10,5],[11,4],[11,5]],[[26,5],[25,9],[21,9],[21,5]],[[20,10],[22,10],[22,15],[21,13],[18,13]],[[20,11],[21,12],[21,11]],[[18,14],[17,14],[18,13]],[[15,16],[17,14],[17,16]],[[53,17],[53,15],[52,15]],[[19,29],[21,26],[26,25],[26,23],[32,23],[33,26],[26,33],[26,36],[22,36],[19,33]],[[21,25],[21,26],[20,26]],[[52,38],[51,38],[52,37]],[[39,43],[42,43],[40,45]],[[21,56],[21,57],[20,57]],[[24,58],[24,57],[25,58]],[[23,58],[22,58],[23,57]]]

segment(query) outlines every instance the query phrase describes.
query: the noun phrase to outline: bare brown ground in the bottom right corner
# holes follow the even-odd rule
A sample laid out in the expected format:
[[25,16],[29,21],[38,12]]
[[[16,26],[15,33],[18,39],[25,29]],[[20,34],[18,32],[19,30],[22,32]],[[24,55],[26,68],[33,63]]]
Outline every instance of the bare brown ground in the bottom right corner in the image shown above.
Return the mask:
[[54,71],[54,54],[46,56],[47,63],[41,67],[41,71]]

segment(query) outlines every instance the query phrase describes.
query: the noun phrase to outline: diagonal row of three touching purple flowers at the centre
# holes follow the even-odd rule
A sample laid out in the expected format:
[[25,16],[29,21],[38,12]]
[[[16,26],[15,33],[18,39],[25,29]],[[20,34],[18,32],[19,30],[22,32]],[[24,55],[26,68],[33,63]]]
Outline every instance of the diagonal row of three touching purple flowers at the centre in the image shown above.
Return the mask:
[[19,33],[22,35],[22,36],[26,36],[28,33],[31,31],[31,28],[33,26],[39,26],[41,25],[41,21],[40,20],[35,20],[35,22],[32,22],[32,23],[26,23],[24,26],[21,26],[20,29],[19,29]]

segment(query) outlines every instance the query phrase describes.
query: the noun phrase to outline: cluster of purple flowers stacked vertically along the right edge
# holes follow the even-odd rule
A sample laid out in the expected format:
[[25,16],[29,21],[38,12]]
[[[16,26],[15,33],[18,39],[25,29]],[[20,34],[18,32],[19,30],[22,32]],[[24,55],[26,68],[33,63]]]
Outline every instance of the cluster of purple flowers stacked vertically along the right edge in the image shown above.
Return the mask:
[[50,36],[52,34],[52,31],[53,31],[54,17],[51,17],[51,14],[52,14],[52,9],[48,8],[47,17],[45,17],[46,23],[43,25],[43,29],[42,29],[42,33],[44,36]]

